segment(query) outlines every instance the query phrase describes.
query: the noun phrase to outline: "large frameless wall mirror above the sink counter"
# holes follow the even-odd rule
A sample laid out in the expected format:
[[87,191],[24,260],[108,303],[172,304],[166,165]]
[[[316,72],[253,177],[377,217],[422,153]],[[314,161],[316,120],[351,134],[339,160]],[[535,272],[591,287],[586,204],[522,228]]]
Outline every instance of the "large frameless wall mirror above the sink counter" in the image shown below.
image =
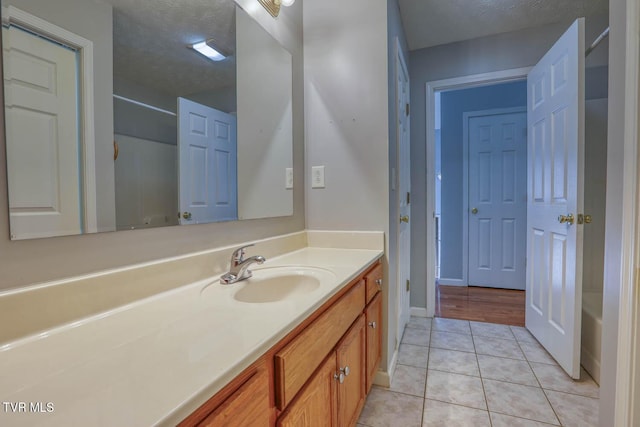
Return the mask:
[[2,19],[12,239],[293,214],[291,54],[233,0]]

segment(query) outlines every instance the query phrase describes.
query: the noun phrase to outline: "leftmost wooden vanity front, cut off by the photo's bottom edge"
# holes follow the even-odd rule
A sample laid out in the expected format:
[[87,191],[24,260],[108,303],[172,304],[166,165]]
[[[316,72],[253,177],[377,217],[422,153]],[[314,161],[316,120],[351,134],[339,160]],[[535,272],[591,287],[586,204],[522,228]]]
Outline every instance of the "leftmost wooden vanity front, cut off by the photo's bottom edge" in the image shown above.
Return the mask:
[[198,426],[268,427],[270,423],[269,371],[261,367]]

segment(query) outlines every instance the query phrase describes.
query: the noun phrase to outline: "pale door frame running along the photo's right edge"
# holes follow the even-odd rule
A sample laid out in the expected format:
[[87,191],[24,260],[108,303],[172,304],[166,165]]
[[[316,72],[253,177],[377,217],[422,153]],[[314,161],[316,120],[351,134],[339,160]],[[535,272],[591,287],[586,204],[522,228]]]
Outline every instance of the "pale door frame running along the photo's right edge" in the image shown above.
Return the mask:
[[[612,31],[602,331],[603,348],[615,339],[616,357],[605,358],[603,352],[601,395],[610,400],[600,400],[600,425],[626,426],[640,421],[640,291],[636,285],[640,263],[640,4],[632,0],[611,1],[609,22]],[[622,165],[614,165],[616,161],[622,161]],[[616,214],[610,215],[613,212]]]

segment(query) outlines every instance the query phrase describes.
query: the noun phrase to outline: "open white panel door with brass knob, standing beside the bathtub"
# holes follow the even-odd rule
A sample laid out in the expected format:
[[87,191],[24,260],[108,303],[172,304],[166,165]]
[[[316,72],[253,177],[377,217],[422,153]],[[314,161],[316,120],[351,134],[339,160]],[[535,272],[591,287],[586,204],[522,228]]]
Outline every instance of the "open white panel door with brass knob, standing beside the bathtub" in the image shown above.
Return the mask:
[[573,378],[580,376],[584,184],[584,20],[527,78],[526,326]]

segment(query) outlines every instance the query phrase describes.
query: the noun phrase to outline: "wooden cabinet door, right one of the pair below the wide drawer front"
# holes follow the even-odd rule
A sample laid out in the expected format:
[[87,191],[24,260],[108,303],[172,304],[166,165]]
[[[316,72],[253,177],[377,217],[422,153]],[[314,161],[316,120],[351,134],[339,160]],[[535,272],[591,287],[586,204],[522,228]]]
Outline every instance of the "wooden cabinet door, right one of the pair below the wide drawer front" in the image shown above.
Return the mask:
[[336,349],[338,371],[345,374],[338,382],[338,425],[355,425],[365,398],[365,319],[360,315]]

